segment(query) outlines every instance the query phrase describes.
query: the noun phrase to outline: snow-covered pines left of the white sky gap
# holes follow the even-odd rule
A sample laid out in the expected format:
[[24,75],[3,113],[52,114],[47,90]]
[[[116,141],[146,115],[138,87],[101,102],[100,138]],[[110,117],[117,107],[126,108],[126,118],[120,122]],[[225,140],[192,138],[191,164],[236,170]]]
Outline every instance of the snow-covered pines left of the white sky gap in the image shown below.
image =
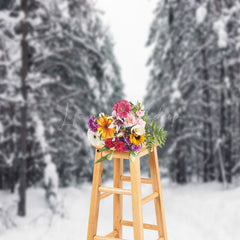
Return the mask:
[[40,181],[48,154],[61,185],[91,180],[87,120],[123,95],[110,33],[90,0],[23,6],[0,5],[0,188]]

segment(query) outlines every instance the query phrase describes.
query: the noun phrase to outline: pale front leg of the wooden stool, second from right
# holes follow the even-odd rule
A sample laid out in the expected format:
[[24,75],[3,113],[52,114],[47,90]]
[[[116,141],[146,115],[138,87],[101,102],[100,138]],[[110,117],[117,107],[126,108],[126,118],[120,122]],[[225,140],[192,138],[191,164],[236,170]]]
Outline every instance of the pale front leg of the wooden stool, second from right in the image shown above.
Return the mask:
[[140,158],[130,162],[131,190],[132,190],[132,209],[133,209],[133,228],[134,239],[143,240],[143,215],[142,215],[142,191],[141,191],[141,173]]

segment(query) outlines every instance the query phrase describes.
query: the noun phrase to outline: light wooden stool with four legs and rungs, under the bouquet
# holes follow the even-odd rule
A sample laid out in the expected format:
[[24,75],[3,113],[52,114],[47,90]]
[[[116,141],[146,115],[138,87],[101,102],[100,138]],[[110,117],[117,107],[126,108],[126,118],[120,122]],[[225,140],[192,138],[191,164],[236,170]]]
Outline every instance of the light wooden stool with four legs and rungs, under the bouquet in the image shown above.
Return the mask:
[[[110,153],[109,151],[99,152],[100,148],[96,147],[95,162],[102,156]],[[157,146],[155,145],[152,149],[152,152],[149,154],[151,179],[141,178],[140,157],[146,154],[148,154],[148,150],[143,146],[135,161],[133,163],[130,162],[131,177],[128,177],[123,176],[123,159],[129,158],[128,153],[118,153],[114,151],[113,187],[101,186],[104,162],[99,162],[94,165],[87,240],[120,240],[122,239],[123,225],[132,226],[134,228],[135,240],[144,239],[144,228],[158,231],[158,240],[167,240]],[[123,181],[131,182],[131,190],[122,188]],[[141,183],[152,184],[153,189],[153,193],[143,199],[141,193]],[[104,237],[97,236],[100,200],[110,196],[111,194],[113,194],[113,231]],[[122,219],[123,194],[132,195],[133,222]],[[153,199],[155,204],[157,225],[143,223],[142,205]]]

